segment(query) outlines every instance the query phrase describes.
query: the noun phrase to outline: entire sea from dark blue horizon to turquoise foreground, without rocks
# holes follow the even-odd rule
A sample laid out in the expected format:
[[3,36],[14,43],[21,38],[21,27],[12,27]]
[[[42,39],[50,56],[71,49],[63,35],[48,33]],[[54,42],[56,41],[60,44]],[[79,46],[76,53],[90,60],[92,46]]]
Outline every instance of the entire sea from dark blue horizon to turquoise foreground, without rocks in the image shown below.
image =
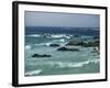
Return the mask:
[[[38,29],[38,30],[37,30]],[[52,29],[52,28],[50,28]],[[29,31],[30,30],[30,31]],[[52,29],[52,30],[55,30]],[[69,33],[70,31],[70,33]],[[70,41],[95,41],[99,36],[98,30],[64,30],[58,32],[40,28],[25,28],[25,76],[94,74],[100,73],[100,57],[95,47],[69,46],[79,51],[57,51]],[[76,32],[75,32],[76,31]],[[86,33],[87,31],[87,33]],[[72,33],[73,32],[73,33]],[[77,34],[77,35],[76,35]],[[50,46],[58,44],[59,46]],[[34,54],[51,55],[51,57],[33,57]]]

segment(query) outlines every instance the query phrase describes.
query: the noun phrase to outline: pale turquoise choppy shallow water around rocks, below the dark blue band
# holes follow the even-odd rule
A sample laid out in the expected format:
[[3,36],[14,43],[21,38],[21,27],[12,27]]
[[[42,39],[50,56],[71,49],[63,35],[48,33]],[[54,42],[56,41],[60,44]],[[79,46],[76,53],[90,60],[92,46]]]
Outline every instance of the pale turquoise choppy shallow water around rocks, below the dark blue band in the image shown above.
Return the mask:
[[[99,54],[92,53],[94,47],[74,46],[79,48],[79,52],[57,51],[70,40],[91,40],[92,36],[25,36],[25,76],[99,73]],[[51,43],[57,43],[61,46],[51,47]],[[32,57],[33,54],[47,54],[52,57]]]

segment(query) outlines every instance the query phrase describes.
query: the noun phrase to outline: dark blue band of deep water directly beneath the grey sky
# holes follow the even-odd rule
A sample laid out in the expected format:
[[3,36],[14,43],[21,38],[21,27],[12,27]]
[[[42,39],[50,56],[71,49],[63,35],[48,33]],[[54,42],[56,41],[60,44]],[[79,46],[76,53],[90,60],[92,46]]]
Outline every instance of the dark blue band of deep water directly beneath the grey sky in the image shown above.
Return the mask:
[[25,35],[36,33],[99,35],[99,28],[25,26]]

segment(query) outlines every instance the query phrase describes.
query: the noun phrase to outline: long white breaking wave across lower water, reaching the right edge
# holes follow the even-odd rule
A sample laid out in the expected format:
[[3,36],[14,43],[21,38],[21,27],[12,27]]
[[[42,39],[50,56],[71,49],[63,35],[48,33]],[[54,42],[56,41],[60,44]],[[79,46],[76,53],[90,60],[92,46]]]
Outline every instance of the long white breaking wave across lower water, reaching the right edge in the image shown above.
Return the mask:
[[99,63],[99,59],[86,61],[81,63],[69,63],[69,62],[37,62],[35,64],[30,65],[41,65],[41,66],[50,66],[50,67],[57,67],[57,68],[65,68],[65,67],[82,67],[84,65],[88,65],[90,63]]

